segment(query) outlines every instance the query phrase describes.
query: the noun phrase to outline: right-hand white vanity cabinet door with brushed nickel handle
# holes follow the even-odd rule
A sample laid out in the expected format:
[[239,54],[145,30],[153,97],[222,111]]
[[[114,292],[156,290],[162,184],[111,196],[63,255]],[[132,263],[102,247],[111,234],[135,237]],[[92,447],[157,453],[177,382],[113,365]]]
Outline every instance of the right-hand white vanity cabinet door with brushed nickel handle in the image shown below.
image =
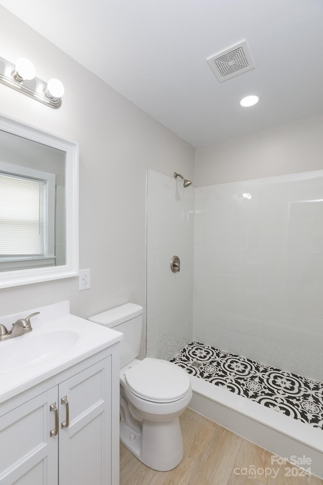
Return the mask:
[[62,382],[59,404],[59,484],[111,485],[111,357]]

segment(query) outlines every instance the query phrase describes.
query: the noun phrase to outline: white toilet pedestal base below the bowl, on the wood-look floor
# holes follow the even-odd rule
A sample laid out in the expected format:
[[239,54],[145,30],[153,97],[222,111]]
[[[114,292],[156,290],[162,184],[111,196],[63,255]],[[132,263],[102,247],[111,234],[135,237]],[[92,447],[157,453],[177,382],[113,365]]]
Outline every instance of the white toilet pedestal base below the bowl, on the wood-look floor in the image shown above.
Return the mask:
[[169,421],[141,423],[141,433],[120,421],[120,441],[138,460],[157,471],[175,468],[184,456],[178,417]]

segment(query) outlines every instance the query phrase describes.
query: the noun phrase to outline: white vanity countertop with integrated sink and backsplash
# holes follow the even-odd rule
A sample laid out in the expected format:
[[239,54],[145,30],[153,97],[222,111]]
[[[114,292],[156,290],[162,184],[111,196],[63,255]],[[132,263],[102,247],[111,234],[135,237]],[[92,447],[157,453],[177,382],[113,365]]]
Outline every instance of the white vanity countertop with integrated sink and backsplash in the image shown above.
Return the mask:
[[123,335],[70,313],[69,302],[0,318],[12,328],[39,311],[29,333],[0,342],[0,403],[119,342]]

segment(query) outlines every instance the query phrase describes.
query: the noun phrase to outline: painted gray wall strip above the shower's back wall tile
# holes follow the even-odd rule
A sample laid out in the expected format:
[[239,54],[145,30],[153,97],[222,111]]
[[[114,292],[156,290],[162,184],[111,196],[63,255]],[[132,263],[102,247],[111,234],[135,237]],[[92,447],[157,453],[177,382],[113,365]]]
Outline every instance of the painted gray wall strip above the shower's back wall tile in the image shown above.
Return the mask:
[[323,115],[196,150],[195,186],[323,168]]

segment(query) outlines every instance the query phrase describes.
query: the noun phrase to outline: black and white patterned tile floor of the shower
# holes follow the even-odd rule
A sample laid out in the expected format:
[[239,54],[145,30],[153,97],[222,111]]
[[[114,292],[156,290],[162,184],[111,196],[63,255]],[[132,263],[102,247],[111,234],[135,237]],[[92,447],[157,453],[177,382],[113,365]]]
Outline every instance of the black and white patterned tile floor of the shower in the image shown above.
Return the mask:
[[323,383],[191,342],[171,362],[189,374],[323,429]]

